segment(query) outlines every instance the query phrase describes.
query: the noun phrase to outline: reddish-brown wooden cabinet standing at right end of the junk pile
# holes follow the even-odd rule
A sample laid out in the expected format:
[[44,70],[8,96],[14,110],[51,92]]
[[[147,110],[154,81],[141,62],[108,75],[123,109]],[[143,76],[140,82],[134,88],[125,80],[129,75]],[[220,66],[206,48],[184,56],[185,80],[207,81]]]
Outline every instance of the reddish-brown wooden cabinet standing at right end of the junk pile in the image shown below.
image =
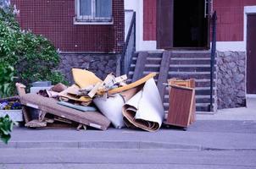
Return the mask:
[[165,124],[186,129],[195,120],[195,90],[170,85],[169,112]]

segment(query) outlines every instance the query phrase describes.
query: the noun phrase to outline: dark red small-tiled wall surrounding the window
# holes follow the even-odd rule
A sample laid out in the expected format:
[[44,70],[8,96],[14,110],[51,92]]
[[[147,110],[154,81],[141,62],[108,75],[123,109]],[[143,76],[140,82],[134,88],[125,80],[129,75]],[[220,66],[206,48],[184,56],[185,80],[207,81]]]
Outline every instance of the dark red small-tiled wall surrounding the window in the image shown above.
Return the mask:
[[11,0],[25,30],[45,35],[62,52],[121,52],[124,0],[113,0],[114,25],[74,25],[75,0]]

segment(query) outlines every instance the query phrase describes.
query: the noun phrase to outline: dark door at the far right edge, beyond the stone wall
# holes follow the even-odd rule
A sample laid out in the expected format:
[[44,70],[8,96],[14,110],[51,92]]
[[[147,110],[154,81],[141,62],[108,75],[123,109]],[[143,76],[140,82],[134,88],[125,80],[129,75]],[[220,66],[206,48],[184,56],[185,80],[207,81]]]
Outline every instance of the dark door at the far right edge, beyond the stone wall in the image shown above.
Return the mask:
[[256,14],[248,14],[247,93],[256,94]]

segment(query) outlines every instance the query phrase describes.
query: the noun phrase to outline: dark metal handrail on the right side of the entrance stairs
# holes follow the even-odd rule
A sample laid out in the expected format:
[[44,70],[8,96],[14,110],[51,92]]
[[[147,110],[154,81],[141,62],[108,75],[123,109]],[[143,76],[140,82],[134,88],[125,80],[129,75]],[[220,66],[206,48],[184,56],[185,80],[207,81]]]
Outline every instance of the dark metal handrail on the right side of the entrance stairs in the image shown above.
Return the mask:
[[213,106],[213,88],[214,88],[214,61],[215,61],[215,54],[216,54],[216,21],[217,21],[217,14],[214,11],[212,16],[212,47],[211,47],[211,67],[210,67],[210,107],[209,111],[214,111]]

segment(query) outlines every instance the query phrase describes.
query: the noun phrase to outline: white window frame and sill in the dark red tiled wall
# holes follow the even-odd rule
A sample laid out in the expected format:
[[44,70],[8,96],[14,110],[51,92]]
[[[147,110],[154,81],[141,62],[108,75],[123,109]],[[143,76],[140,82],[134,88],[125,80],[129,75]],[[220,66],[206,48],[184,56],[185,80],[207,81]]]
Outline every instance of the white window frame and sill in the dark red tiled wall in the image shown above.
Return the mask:
[[[80,14],[80,0],[75,0],[75,25],[84,25],[84,24],[92,24],[92,25],[109,25],[113,24],[113,17],[96,17],[96,0],[91,0],[91,15],[81,15]],[[111,11],[112,13],[112,11]]]

